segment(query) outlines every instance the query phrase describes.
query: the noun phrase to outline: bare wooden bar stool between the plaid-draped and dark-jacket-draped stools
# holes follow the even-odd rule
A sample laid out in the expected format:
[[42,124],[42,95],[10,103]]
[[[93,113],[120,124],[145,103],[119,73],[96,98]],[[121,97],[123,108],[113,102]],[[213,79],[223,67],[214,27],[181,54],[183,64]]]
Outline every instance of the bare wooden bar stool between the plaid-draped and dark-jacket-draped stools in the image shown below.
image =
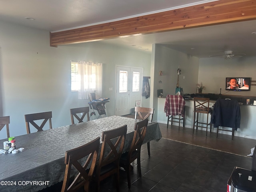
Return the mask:
[[[209,122],[209,118],[208,118],[209,113],[211,114],[212,112],[212,108],[209,107],[209,104],[210,104],[210,98],[194,97],[194,124],[193,124],[192,134],[194,134],[195,126],[196,126],[196,130],[198,130],[198,127],[206,128],[206,137],[207,137],[207,130],[209,125],[210,125],[210,133],[212,132],[212,124],[211,122]],[[199,113],[207,114],[206,123],[198,121]],[[198,126],[198,124],[201,124],[201,126]]]

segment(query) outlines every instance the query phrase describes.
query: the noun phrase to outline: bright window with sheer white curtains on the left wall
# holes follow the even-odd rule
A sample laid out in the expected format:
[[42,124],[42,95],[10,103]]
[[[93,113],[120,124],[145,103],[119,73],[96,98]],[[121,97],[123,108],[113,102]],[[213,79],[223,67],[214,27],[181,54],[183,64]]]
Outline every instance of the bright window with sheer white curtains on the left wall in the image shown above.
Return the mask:
[[71,91],[78,91],[79,99],[88,99],[88,94],[102,92],[102,64],[71,62]]

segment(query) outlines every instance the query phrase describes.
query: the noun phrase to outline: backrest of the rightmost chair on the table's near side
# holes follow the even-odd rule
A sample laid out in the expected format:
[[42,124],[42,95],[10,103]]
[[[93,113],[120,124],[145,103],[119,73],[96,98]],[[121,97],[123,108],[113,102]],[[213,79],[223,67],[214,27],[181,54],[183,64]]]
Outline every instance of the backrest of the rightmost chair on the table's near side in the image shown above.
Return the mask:
[[141,145],[146,135],[147,127],[148,127],[148,118],[145,118],[144,120],[136,122],[134,127],[132,144],[128,152],[129,157],[130,157],[130,154],[132,154],[132,152],[134,152],[135,150],[140,151]]

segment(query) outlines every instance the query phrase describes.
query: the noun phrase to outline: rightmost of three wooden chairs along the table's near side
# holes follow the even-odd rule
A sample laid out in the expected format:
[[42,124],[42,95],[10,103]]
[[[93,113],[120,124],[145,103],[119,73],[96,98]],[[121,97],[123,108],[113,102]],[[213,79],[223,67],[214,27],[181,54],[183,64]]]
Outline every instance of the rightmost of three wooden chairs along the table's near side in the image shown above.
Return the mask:
[[131,163],[134,162],[136,159],[139,176],[142,176],[140,168],[140,149],[146,135],[147,127],[147,118],[140,122],[136,122],[131,147],[129,151],[123,153],[120,158],[120,167],[124,168],[124,170],[126,171],[128,188],[131,188]]

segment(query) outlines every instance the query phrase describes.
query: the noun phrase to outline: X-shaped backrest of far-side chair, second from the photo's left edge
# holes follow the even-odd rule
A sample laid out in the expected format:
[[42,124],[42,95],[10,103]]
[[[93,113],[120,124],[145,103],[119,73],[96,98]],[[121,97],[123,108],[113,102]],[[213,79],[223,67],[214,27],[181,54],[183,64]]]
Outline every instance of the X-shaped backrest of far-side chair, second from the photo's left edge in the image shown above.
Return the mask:
[[[41,120],[43,119],[43,122],[40,126],[36,124],[35,120]],[[33,114],[26,114],[25,115],[25,121],[26,121],[26,127],[27,127],[27,134],[30,134],[30,124],[32,124],[37,131],[42,131],[44,125],[49,120],[49,127],[52,129],[52,112],[42,112],[42,113],[33,113]]]

